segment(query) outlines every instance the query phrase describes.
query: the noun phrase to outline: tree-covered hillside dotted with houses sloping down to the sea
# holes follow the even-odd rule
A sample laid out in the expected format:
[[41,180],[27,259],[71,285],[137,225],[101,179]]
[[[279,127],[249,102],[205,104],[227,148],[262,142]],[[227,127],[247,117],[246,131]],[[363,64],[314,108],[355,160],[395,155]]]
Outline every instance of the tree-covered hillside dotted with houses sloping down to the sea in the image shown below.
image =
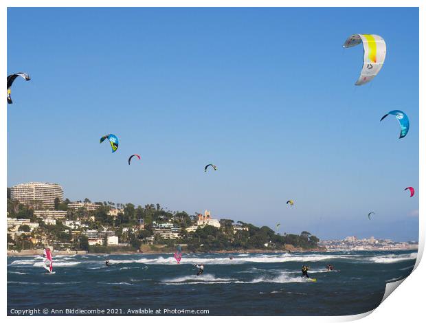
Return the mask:
[[[31,183],[27,183],[31,184]],[[20,184],[20,185],[27,185]],[[8,188],[8,250],[85,252],[171,252],[182,245],[187,252],[234,250],[284,251],[315,249],[319,239],[309,232],[278,234],[232,219],[214,219],[210,211],[188,214],[164,210],[159,204],[95,202],[63,199],[62,188]],[[46,189],[58,184],[46,183]],[[21,194],[21,195],[20,195]]]

